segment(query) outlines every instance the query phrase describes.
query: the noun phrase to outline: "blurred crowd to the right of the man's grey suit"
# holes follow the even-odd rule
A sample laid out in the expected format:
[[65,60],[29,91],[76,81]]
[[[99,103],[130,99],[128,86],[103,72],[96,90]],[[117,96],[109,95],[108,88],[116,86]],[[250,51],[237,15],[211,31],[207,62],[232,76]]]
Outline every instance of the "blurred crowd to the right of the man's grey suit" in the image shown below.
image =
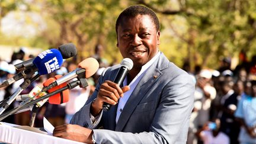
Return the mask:
[[231,62],[195,72],[184,63],[196,82],[187,143],[256,143],[256,56],[241,52],[235,69]]

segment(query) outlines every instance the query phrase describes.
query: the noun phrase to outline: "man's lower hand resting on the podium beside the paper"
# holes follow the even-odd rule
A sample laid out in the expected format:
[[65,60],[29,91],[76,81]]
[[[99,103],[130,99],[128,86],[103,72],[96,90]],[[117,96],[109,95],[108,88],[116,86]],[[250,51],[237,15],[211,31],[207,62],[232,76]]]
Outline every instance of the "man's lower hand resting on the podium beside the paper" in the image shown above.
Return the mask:
[[53,130],[53,136],[84,143],[92,143],[92,134],[91,129],[76,124],[63,124]]

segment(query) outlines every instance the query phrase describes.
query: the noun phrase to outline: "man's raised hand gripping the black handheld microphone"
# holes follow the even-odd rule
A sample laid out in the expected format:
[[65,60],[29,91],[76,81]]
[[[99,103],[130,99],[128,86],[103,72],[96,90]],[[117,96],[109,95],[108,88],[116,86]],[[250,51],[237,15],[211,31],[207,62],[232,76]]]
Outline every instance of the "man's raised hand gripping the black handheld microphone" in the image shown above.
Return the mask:
[[97,116],[102,110],[104,102],[116,105],[119,98],[123,97],[123,93],[129,91],[129,89],[130,87],[127,85],[120,88],[119,85],[114,82],[105,81],[101,84],[97,98],[91,105],[91,114]]

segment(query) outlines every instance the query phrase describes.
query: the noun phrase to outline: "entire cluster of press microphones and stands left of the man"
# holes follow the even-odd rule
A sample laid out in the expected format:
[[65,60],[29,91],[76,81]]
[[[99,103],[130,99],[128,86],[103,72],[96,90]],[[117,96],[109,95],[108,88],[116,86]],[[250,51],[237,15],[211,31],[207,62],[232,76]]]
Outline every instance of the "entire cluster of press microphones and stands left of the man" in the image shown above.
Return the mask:
[[[41,107],[46,101],[50,104],[62,104],[69,100],[69,90],[76,86],[87,87],[87,80],[90,76],[99,68],[99,63],[96,59],[89,57],[78,64],[78,68],[68,74],[56,75],[55,78],[49,78],[43,83],[43,88],[36,86],[27,95],[20,95],[23,89],[27,88],[31,82],[39,78],[40,75],[46,75],[52,73],[62,66],[63,59],[68,59],[69,57],[76,55],[76,47],[74,44],[63,44],[58,47],[58,49],[49,49],[40,53],[34,59],[27,60],[25,62],[18,63],[15,68],[20,70],[13,78],[7,79],[1,85],[1,87],[6,87],[11,85],[19,79],[24,79],[23,84],[17,89],[14,94],[12,94],[6,100],[0,102],[0,121],[5,119],[11,114],[16,113],[19,110],[30,107],[34,105],[32,116],[35,116],[37,109]],[[69,82],[71,81],[72,82]],[[75,81],[73,81],[75,80]],[[12,110],[3,113],[14,100],[24,100],[20,105]],[[31,118],[30,126],[33,126],[34,117]]]

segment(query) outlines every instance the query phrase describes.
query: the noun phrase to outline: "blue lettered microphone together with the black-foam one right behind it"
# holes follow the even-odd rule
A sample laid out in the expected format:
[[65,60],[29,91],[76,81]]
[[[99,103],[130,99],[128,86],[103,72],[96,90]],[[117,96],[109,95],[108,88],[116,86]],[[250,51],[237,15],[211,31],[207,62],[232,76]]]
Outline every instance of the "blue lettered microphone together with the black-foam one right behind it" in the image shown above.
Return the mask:
[[39,73],[39,75],[54,72],[62,65],[63,58],[68,59],[75,55],[76,47],[72,43],[62,44],[58,49],[46,50],[33,59],[14,65],[17,70],[22,71],[17,73],[13,78],[4,81],[0,85],[0,88],[11,85],[22,78],[31,78],[35,72]]

